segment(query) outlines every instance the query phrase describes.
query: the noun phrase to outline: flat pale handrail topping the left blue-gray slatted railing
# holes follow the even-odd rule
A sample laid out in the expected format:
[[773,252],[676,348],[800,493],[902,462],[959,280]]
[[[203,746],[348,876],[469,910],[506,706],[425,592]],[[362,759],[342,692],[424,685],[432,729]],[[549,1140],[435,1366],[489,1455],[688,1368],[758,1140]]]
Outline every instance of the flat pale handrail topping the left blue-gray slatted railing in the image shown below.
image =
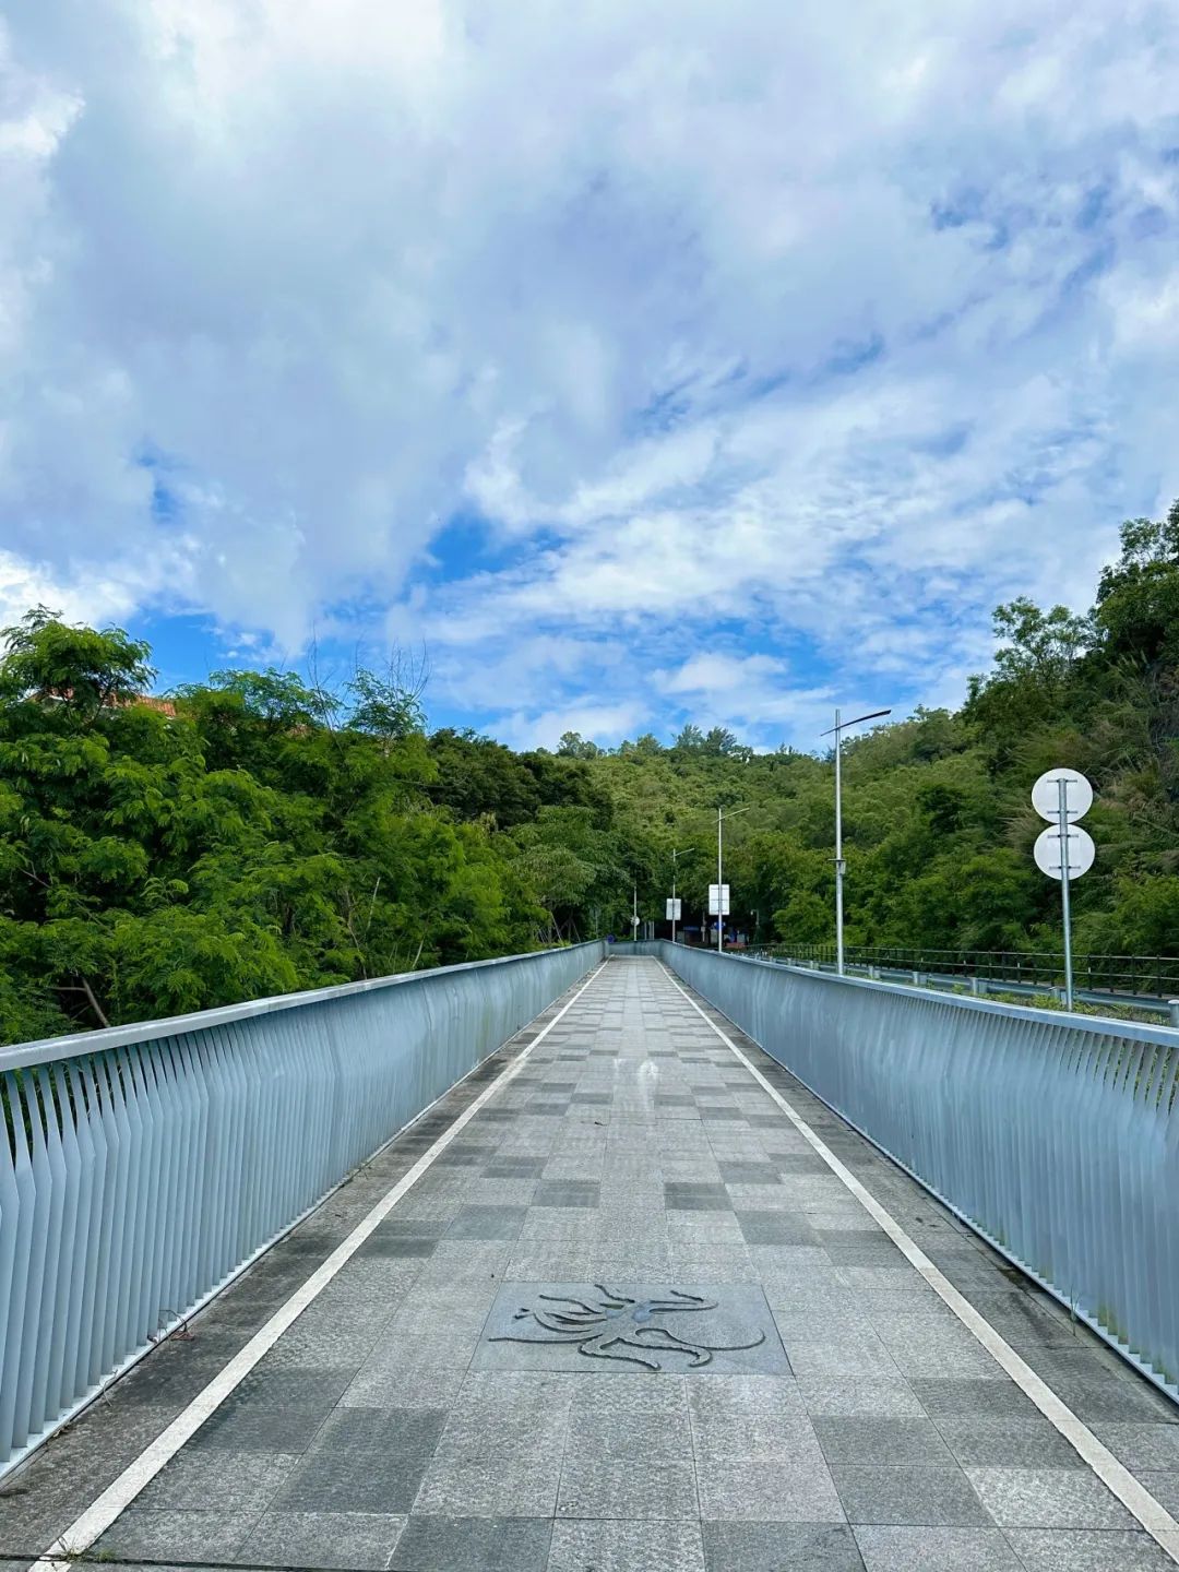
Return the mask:
[[448,973],[473,971],[479,967],[506,967],[536,956],[553,954],[558,949],[585,949],[601,945],[601,940],[585,938],[577,945],[553,945],[547,949],[527,949],[517,956],[489,956],[486,960],[457,960],[448,967],[424,967],[421,971],[393,971],[384,978],[365,978],[360,982],[336,982],[332,987],[300,989],[296,994],[270,994],[266,998],[248,998],[237,1005],[215,1005],[212,1009],[193,1009],[184,1016],[160,1016],[156,1020],[135,1020],[124,1027],[99,1027],[94,1031],[71,1031],[61,1038],[38,1038],[33,1042],[16,1042],[0,1047],[0,1074],[19,1071],[30,1064],[55,1064],[72,1060],[79,1053],[102,1053],[107,1049],[134,1047],[138,1042],[156,1042],[160,1038],[181,1038],[189,1031],[208,1027],[225,1027],[234,1020],[267,1016],[280,1009],[299,1009],[305,1005],[321,1005],[329,1000],[347,998],[352,994],[371,994],[377,989],[401,987],[446,976]]

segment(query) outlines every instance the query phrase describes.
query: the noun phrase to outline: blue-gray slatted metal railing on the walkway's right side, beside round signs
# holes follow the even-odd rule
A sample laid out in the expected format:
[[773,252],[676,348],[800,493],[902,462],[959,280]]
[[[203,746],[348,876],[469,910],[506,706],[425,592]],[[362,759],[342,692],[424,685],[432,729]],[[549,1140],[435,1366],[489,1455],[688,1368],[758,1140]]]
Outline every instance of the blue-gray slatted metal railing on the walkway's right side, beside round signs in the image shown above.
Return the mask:
[[1179,1031],[634,948],[1179,1398]]

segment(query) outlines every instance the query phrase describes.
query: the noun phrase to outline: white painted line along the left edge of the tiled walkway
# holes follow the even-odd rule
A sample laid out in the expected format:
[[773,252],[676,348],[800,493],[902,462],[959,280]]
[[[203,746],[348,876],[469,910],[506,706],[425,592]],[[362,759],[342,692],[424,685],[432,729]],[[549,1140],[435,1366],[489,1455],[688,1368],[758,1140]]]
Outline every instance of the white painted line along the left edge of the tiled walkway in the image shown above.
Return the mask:
[[[285,1305],[269,1317],[269,1320],[259,1327],[259,1330],[250,1338],[245,1347],[236,1353],[230,1363],[204,1387],[192,1402],[184,1409],[167,1429],[160,1431],[154,1442],[140,1453],[140,1456],[127,1464],[118,1478],[112,1479],[105,1490],[97,1495],[85,1512],[77,1517],[69,1528],[66,1528],[52,1545],[41,1552],[41,1556],[33,1563],[28,1572],[75,1572],[77,1558],[85,1555],[90,1547],[101,1539],[102,1534],[123,1515],[123,1512],[130,1506],[130,1503],[151,1484],[160,1470],[171,1462],[176,1453],[192,1440],[192,1437],[200,1431],[206,1420],[220,1409],[231,1393],[241,1387],[255,1364],[270,1352],[270,1349],[278,1342],[281,1335],[302,1316],[302,1313],[311,1305],[319,1294],[327,1287],[332,1278],[347,1265],[352,1256],[360,1250],[365,1240],[373,1234],[373,1231],[388,1217],[398,1201],[407,1195],[409,1190],[418,1182],[418,1179],[432,1166],[437,1157],[445,1152],[451,1141],[470,1124],[470,1121],[486,1107],[487,1102],[500,1091],[508,1082],[514,1080],[516,1075],[523,1069],[528,1055],[538,1047],[552,1031],[552,1028],[561,1020],[578,1001],[582,994],[597,981],[597,978],[605,970],[607,962],[601,962],[590,973],[590,976],[582,982],[574,997],[561,1006],[561,1009],[553,1016],[553,1019],[538,1031],[527,1047],[508,1064],[494,1082],[490,1082],[479,1096],[472,1102],[462,1113],[454,1119],[450,1129],[443,1130],[442,1135],[434,1141],[434,1144],[418,1157],[413,1166],[398,1179],[398,1182],[385,1192],[385,1195],[377,1201],[377,1204],[357,1223],[351,1234],[347,1234],[332,1251],[327,1261],[319,1265],[311,1276],[302,1283],[296,1292],[286,1300]],[[478,1067],[478,1066],[476,1066]],[[461,1085],[461,1083],[456,1083]]]

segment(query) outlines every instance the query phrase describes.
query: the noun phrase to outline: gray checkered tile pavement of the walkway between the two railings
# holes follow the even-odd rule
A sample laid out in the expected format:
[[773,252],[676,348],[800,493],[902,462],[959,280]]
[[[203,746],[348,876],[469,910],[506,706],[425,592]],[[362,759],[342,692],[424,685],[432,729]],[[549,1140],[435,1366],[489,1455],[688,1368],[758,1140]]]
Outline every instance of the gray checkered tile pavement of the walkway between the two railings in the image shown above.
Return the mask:
[[[538,1028],[0,1490],[9,1564],[93,1500]],[[1179,1509],[1176,1410],[737,1041]],[[671,1291],[693,1308],[660,1309]],[[605,1335],[574,1342],[586,1327]],[[130,1566],[401,1572],[1173,1566],[654,960],[597,976],[96,1548]]]

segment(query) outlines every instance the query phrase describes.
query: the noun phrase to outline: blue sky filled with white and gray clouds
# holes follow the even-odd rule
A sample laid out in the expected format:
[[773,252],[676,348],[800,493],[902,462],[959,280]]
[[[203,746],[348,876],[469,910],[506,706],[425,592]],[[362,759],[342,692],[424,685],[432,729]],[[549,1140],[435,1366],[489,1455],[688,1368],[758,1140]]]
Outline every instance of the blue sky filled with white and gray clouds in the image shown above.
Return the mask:
[[1179,494],[1173,0],[0,0],[0,615],[813,747]]

